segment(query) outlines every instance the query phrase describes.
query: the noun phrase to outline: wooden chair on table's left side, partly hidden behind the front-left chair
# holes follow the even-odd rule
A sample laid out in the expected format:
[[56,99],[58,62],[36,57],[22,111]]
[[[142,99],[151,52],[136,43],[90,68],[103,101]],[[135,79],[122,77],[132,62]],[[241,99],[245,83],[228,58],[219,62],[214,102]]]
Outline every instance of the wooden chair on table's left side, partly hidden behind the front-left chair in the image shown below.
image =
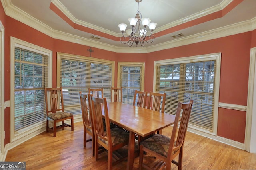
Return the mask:
[[[80,96],[80,104],[81,104],[81,112],[82,112],[82,119],[84,124],[84,147],[86,147],[86,143],[89,141],[92,141],[92,156],[94,156],[94,132],[92,127],[92,112],[87,107],[90,107],[90,97],[88,97],[89,94],[83,94],[82,92],[79,92]],[[86,102],[87,100],[87,102]],[[89,112],[89,113],[88,113]],[[90,139],[87,139],[87,133],[91,136]]]

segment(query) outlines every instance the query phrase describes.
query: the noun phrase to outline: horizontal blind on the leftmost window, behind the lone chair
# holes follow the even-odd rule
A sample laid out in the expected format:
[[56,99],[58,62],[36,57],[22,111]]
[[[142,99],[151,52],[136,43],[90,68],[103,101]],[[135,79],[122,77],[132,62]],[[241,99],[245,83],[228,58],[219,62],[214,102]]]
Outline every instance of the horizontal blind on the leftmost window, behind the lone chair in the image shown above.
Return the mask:
[[15,47],[14,130],[46,118],[44,87],[48,86],[48,56]]

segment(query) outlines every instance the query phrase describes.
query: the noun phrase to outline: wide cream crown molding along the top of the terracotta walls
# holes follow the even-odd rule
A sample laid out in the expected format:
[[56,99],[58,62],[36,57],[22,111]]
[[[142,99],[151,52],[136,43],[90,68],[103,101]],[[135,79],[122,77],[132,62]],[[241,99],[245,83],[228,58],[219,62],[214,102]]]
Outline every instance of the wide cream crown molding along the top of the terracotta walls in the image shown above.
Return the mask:
[[[238,33],[244,33],[244,32],[252,31],[252,30],[256,29],[256,17],[255,17],[251,20],[243,21],[240,23],[235,23],[235,24],[228,25],[225,27],[213,29],[213,30],[206,31],[203,33],[198,33],[195,35],[190,35],[188,37],[175,39],[175,40],[168,41],[165,43],[160,43],[157,45],[152,45],[149,47],[143,47],[143,48],[118,47],[118,46],[94,41],[92,39],[86,39],[84,37],[79,37],[76,35],[71,35],[68,33],[54,30],[51,27],[49,27],[48,25],[40,22],[36,18],[34,18],[34,17],[30,16],[29,14],[25,13],[24,11],[20,10],[16,6],[13,6],[11,4],[10,0],[1,0],[1,2],[4,7],[4,11],[5,11],[6,15],[8,15],[11,18],[14,18],[15,20],[18,20],[18,21],[52,37],[52,38],[69,41],[72,43],[78,43],[81,45],[88,45],[90,47],[104,49],[107,51],[113,51],[116,53],[150,53],[150,52],[154,52],[154,51],[160,51],[160,50],[164,50],[164,49],[179,47],[182,45],[188,45],[188,44],[192,44],[192,43],[198,43],[198,42],[207,41],[207,40],[211,40],[211,39],[226,37],[226,36],[234,35],[234,34],[238,34]],[[230,2],[230,0],[226,0],[224,2],[226,2],[226,4],[228,4],[228,2]]]

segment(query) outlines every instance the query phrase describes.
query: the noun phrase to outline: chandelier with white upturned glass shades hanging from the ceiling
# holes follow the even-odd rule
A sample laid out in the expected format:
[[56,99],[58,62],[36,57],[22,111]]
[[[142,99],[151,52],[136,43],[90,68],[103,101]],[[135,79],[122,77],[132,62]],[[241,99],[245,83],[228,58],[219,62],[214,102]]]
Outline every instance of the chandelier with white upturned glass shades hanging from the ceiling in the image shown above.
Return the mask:
[[[152,35],[152,32],[156,28],[157,23],[150,23],[151,20],[149,18],[142,18],[142,15],[139,11],[139,3],[142,0],[135,1],[138,2],[138,10],[134,18],[128,18],[128,21],[130,22],[132,29],[126,30],[127,36],[124,35],[124,31],[127,25],[125,23],[120,23],[118,25],[123,35],[122,37],[120,37],[120,41],[124,44],[128,43],[129,47],[131,47],[134,42],[136,43],[136,47],[138,47],[138,43],[140,43],[140,45],[143,47],[145,41],[147,43],[152,43],[155,40],[155,37],[154,35]],[[146,27],[149,27],[150,35],[147,35]]]

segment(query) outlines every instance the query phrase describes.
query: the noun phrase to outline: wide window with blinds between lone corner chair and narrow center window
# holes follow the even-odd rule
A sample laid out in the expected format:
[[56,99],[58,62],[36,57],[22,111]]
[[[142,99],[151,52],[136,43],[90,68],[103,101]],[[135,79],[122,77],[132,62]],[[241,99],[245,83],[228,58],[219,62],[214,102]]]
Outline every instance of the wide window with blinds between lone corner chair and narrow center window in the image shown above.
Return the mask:
[[57,86],[63,88],[65,111],[81,114],[79,91],[88,88],[103,88],[110,102],[114,70],[114,61],[58,53]]

